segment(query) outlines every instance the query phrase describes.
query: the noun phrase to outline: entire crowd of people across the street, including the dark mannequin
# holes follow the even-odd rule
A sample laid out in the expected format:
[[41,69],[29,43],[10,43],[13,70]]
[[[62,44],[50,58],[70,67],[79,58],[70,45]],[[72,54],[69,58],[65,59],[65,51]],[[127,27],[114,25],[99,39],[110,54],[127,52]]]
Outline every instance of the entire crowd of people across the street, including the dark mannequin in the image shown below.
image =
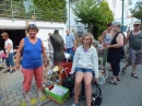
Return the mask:
[[[128,32],[127,36],[120,31],[120,23],[114,22],[107,24],[107,28],[99,37],[103,49],[103,70],[106,70],[106,62],[109,63],[109,70],[113,78],[108,80],[109,84],[117,85],[120,81],[119,74],[126,73],[129,66],[132,66],[131,76],[139,79],[135,73],[137,66],[142,63],[142,32],[140,31],[141,22],[134,22],[133,30]],[[71,74],[75,73],[74,82],[74,103],[71,106],[79,106],[79,94],[81,82],[84,80],[86,105],[91,106],[92,101],[92,81],[97,82],[99,79],[97,48],[94,47],[93,35],[87,33],[81,38],[75,38],[69,30],[66,31],[66,40],[59,35],[59,31],[55,30],[54,34],[48,34],[48,49],[45,49],[40,38],[36,37],[38,27],[35,24],[27,26],[28,36],[24,37],[19,45],[15,63],[13,61],[13,43],[9,38],[8,33],[1,36],[5,40],[5,63],[4,73],[13,73],[20,69],[22,59],[23,73],[23,93],[26,101],[31,101],[28,92],[33,76],[35,76],[38,96],[43,96],[43,64],[45,68],[49,64],[49,56],[52,56],[54,64],[59,64],[66,58],[64,52],[72,58]],[[64,43],[66,42],[66,43]],[[129,59],[128,63],[120,70],[120,60],[125,58],[125,45],[129,42]],[[64,45],[66,44],[66,45]],[[64,50],[64,51],[63,51]],[[63,55],[62,55],[63,54]],[[42,57],[43,56],[43,57]],[[2,57],[2,54],[0,54]],[[10,66],[12,70],[10,70]]]

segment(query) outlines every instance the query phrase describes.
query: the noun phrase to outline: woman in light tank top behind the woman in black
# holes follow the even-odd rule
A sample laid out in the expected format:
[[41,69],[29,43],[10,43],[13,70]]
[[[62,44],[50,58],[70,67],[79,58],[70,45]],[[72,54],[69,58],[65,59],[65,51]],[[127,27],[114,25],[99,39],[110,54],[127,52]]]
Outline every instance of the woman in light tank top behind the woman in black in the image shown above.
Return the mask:
[[[100,42],[103,44],[103,69],[105,70],[105,66],[106,66],[106,62],[107,62],[107,54],[108,54],[108,49],[106,48],[106,45],[109,45],[111,43],[111,39],[113,39],[113,31],[111,31],[111,23],[108,23],[107,24],[107,30],[105,30],[102,34],[102,37],[100,37]],[[111,67],[110,67],[111,69]]]

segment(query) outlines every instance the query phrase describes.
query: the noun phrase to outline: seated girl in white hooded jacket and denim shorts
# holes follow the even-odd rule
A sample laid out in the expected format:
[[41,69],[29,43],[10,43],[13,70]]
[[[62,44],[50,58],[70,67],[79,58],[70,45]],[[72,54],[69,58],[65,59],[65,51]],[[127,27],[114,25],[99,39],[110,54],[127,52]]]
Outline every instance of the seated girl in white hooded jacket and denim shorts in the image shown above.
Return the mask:
[[98,57],[93,45],[93,36],[85,34],[82,37],[82,45],[75,50],[71,73],[75,72],[74,103],[71,106],[79,106],[80,85],[84,79],[86,106],[91,106],[93,75],[98,79]]

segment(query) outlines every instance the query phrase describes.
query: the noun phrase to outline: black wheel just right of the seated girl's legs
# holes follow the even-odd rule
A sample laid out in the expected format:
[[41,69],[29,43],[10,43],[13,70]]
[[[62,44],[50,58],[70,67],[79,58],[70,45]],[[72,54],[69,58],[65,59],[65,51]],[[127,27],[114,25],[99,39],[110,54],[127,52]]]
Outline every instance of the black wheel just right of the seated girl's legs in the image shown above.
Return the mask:
[[93,90],[95,91],[95,93],[92,94],[91,106],[100,106],[103,102],[102,90],[97,83],[93,83]]

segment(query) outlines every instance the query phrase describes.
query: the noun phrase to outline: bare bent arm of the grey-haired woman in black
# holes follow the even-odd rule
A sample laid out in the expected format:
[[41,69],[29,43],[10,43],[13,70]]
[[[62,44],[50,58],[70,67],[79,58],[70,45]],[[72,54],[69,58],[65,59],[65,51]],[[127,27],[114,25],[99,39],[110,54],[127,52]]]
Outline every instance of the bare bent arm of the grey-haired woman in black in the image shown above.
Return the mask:
[[110,48],[119,48],[119,47],[122,47],[123,46],[123,35],[121,33],[119,33],[119,35],[117,36],[116,38],[117,40],[117,44],[115,45],[110,45]]

